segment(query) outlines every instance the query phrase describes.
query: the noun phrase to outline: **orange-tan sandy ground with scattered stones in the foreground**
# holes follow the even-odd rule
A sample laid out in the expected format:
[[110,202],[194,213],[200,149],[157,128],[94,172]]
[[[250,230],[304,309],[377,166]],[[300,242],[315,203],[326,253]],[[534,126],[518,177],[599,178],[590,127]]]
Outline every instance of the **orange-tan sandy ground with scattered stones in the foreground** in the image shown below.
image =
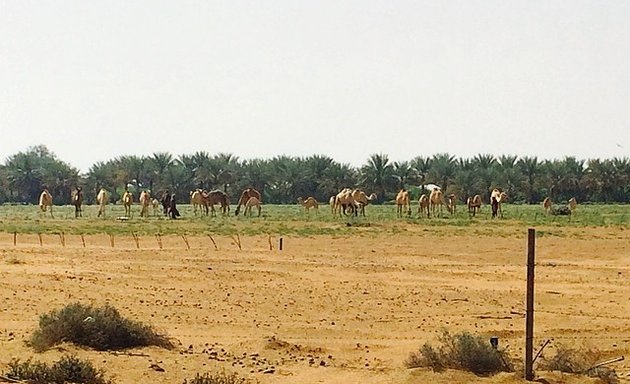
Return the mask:
[[[357,229],[358,232],[359,229]],[[558,232],[557,230],[556,232]],[[549,231],[548,231],[549,232]],[[564,229],[537,239],[535,345],[630,352],[630,231]],[[133,238],[0,234],[0,371],[11,358],[77,353],[117,383],[182,383],[225,369],[260,383],[520,383],[406,369],[446,329],[498,336],[522,359],[524,236],[412,226],[397,235]],[[36,354],[24,341],[40,314],[109,303],[177,340],[123,354],[72,345]],[[150,368],[158,364],[164,372]],[[630,364],[614,366],[630,379]],[[267,373],[265,373],[267,372]],[[548,382],[596,382],[539,372]]]

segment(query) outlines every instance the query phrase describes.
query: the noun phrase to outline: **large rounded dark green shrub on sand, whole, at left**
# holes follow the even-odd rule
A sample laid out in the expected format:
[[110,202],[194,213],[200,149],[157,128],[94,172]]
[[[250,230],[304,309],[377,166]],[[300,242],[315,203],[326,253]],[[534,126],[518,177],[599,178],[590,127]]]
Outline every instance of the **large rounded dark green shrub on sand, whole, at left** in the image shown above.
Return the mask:
[[166,336],[148,325],[123,318],[114,307],[94,308],[80,303],[41,315],[30,345],[43,351],[64,341],[99,351],[149,345],[173,348]]

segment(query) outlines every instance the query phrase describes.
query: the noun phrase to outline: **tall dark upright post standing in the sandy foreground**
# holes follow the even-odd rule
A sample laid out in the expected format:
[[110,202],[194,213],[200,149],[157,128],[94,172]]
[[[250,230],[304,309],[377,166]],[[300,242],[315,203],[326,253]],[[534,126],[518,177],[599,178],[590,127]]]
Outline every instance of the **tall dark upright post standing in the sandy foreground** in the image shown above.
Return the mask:
[[525,380],[534,380],[534,264],[536,230],[527,230],[527,313],[525,316]]

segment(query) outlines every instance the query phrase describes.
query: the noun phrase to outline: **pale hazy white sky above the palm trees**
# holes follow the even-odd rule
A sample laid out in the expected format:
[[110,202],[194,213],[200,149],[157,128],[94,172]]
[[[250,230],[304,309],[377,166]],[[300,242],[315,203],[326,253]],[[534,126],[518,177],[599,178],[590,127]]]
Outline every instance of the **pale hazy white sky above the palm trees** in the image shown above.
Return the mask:
[[0,162],[630,155],[630,1],[0,0]]

